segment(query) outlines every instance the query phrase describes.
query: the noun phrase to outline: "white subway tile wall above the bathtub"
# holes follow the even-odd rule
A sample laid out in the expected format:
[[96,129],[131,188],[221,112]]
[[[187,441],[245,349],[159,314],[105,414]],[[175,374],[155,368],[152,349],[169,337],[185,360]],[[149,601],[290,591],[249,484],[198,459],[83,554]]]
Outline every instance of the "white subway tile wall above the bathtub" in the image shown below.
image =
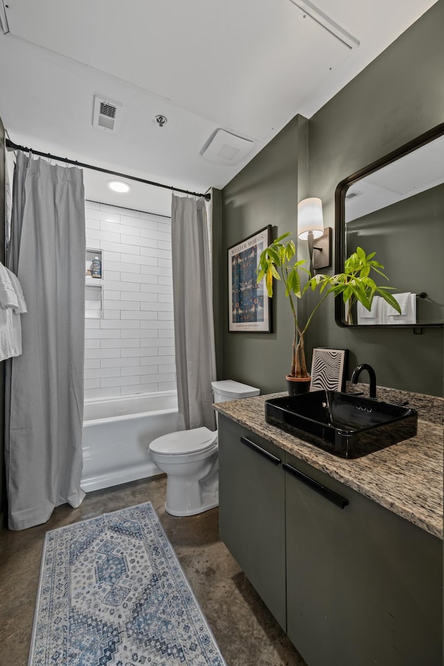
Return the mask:
[[176,388],[169,219],[95,201],[85,213],[103,262],[103,318],[85,319],[85,398]]

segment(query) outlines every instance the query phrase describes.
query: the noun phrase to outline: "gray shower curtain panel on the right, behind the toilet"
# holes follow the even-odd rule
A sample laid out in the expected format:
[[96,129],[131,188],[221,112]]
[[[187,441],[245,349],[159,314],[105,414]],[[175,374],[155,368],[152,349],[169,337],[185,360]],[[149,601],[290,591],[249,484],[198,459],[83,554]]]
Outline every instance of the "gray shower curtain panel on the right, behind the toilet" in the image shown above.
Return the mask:
[[214,430],[216,379],[210,245],[205,201],[173,196],[174,332],[181,427]]

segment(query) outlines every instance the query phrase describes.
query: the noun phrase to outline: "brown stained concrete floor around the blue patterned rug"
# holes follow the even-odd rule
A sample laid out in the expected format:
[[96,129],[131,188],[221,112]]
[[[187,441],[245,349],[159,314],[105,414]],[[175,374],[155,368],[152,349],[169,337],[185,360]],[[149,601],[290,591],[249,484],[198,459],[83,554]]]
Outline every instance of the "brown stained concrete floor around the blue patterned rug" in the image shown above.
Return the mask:
[[[218,510],[176,518],[164,510],[166,477],[88,493],[44,525],[0,535],[0,663],[25,666],[44,533],[104,512],[152,502],[228,666],[305,666],[219,538]],[[67,665],[69,666],[69,665]]]

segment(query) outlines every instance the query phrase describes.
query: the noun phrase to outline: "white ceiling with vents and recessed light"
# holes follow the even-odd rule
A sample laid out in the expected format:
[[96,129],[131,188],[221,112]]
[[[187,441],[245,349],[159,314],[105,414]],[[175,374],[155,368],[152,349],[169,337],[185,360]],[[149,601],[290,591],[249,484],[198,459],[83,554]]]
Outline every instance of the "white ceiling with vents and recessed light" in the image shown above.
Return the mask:
[[[12,141],[35,150],[191,191],[221,188],[433,4],[8,0],[0,115]],[[92,127],[95,94],[122,104],[115,133]],[[168,119],[162,128],[157,114]],[[253,142],[237,164],[200,154],[218,128]],[[133,182],[113,195],[107,180],[85,171],[87,198],[169,212],[169,191]]]

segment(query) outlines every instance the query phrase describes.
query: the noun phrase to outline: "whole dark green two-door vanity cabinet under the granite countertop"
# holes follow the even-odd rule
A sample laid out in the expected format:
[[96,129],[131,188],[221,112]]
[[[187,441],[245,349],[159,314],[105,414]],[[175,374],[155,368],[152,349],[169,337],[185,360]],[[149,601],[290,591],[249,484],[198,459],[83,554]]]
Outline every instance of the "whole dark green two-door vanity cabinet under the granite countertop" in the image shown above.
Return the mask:
[[221,414],[219,459],[221,538],[308,666],[442,665],[440,539]]

